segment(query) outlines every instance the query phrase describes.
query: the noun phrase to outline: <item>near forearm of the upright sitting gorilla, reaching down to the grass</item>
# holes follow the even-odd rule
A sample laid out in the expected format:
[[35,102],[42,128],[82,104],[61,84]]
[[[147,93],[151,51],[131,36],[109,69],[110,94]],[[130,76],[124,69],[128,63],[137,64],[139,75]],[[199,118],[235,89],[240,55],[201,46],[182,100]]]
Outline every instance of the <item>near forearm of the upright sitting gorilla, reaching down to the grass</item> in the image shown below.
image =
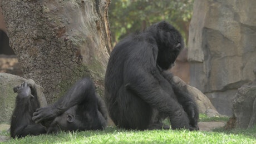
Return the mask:
[[[151,107],[157,108],[159,112],[166,113],[170,118],[172,128],[189,129],[188,116],[183,107],[175,100],[171,87],[166,92],[165,88],[160,86],[159,81],[156,80],[151,72],[145,71],[145,69],[136,69],[136,72],[141,73],[130,74],[132,77],[127,79],[130,81],[127,83],[126,89],[149,103]],[[156,72],[158,74],[154,75],[160,75],[159,71]]]

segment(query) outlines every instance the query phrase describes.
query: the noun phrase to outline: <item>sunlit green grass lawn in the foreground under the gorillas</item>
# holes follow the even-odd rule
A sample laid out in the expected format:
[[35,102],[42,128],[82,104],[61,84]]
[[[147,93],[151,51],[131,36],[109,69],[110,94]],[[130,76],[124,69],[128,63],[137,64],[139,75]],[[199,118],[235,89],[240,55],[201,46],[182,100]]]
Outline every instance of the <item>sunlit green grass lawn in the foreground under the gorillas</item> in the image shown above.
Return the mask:
[[[200,121],[227,121],[227,118],[208,118]],[[2,132],[1,135],[9,136]],[[256,143],[256,127],[249,130],[211,132],[188,130],[129,131],[107,127],[104,131],[60,132],[58,135],[27,136],[3,143]]]

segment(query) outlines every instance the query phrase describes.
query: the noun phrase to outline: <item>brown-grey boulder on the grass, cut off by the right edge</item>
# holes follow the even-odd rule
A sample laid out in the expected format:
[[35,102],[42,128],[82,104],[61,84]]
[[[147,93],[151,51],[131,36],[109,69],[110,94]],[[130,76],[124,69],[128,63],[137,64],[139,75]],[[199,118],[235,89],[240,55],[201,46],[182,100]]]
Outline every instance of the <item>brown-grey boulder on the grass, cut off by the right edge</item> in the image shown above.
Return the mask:
[[256,125],[256,68],[254,75],[254,82],[240,87],[233,100],[235,127],[250,128]]

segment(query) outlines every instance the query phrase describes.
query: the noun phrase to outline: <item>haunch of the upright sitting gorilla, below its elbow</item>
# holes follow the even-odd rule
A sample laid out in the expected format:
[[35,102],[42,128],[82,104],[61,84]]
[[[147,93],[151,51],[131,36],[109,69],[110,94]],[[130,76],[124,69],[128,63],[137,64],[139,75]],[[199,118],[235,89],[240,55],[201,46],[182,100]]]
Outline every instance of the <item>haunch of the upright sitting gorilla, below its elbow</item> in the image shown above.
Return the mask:
[[[127,88],[127,86],[126,86]],[[145,130],[152,123],[152,108],[140,97],[135,97],[131,90],[120,88],[117,101],[109,107],[109,115],[117,127]],[[124,92],[126,91],[126,92]]]

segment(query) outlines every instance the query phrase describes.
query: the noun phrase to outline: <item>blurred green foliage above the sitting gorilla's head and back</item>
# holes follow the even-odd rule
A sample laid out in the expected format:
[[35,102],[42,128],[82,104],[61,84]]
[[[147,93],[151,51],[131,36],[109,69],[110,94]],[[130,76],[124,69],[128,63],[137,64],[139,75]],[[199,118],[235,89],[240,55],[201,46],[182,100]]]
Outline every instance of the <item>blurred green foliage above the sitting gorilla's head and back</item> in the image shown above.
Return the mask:
[[186,40],[193,3],[194,0],[112,0],[109,8],[112,42],[162,20],[171,23]]

